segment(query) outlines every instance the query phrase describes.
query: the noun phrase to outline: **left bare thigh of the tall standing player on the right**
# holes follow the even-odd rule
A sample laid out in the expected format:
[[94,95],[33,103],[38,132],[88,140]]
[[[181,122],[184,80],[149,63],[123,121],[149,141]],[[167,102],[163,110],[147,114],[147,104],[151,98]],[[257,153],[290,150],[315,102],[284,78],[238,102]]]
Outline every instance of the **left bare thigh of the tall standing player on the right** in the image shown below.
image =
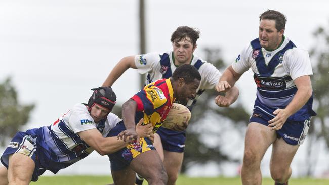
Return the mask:
[[256,122],[249,123],[244,140],[244,157],[260,161],[275,140],[276,132],[268,126]]

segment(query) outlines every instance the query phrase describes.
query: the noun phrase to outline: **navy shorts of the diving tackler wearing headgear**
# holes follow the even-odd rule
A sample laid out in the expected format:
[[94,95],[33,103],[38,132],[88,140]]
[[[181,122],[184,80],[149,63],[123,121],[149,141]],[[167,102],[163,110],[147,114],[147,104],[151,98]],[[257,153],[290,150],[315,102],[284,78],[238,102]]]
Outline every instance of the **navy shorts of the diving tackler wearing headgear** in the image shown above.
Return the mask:
[[35,138],[25,132],[17,132],[1,156],[1,162],[8,169],[9,155],[21,153],[29,156],[35,163],[35,168],[31,179],[35,182],[38,180],[39,176],[46,171],[45,168],[41,167],[39,160],[37,160],[38,154],[36,148]]

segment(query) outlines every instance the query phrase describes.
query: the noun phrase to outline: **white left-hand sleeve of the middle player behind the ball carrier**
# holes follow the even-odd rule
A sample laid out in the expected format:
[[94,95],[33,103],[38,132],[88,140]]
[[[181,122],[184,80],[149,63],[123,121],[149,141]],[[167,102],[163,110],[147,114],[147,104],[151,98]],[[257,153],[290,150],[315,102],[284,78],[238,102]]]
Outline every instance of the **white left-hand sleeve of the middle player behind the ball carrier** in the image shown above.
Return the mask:
[[147,53],[135,56],[135,65],[140,74],[151,73],[159,61],[160,55],[158,53]]

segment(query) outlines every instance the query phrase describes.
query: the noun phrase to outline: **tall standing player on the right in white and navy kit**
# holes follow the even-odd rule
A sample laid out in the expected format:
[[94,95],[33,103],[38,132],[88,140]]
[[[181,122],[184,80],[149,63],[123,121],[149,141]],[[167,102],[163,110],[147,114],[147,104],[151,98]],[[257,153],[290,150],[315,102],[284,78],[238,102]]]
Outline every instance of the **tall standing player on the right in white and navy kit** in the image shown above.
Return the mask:
[[254,72],[257,98],[245,135],[242,184],[261,184],[261,160],[270,145],[270,172],[275,184],[287,184],[290,164],[307,135],[313,93],[311,61],[284,36],[286,18],[267,10],[260,15],[259,38],[254,39],[230,65],[216,89],[229,90],[249,68]]

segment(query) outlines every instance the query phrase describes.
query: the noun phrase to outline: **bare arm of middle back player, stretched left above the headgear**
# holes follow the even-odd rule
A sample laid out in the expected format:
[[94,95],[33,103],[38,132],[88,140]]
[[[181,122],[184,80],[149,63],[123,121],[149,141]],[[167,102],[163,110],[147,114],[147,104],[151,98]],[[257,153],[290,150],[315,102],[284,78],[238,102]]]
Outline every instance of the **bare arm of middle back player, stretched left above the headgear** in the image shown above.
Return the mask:
[[137,69],[135,64],[135,56],[128,56],[121,59],[112,69],[110,74],[107,76],[102,86],[110,87],[113,83],[122,75],[124,72],[129,69]]

